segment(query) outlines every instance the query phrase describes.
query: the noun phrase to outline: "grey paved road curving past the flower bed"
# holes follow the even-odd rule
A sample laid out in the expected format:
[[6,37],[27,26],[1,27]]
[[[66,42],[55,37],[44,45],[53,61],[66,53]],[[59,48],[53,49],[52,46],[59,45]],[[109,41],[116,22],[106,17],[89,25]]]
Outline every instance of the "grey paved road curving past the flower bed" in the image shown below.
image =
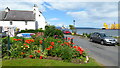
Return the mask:
[[[98,43],[89,42],[88,39],[78,36],[65,35],[74,37],[74,43],[85,49],[89,56],[104,66],[118,66],[118,47],[105,46]],[[120,53],[120,52],[119,52]]]

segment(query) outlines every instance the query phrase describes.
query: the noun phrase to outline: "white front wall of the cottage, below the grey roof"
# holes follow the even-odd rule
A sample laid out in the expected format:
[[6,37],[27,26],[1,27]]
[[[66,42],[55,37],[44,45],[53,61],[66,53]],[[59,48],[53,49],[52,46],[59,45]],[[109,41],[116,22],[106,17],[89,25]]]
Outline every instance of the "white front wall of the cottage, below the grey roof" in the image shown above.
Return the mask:
[[0,21],[0,26],[4,27],[17,27],[20,30],[25,29],[35,29],[34,21],[27,21],[27,25],[25,25],[25,21],[12,21],[12,25],[10,25],[10,21]]

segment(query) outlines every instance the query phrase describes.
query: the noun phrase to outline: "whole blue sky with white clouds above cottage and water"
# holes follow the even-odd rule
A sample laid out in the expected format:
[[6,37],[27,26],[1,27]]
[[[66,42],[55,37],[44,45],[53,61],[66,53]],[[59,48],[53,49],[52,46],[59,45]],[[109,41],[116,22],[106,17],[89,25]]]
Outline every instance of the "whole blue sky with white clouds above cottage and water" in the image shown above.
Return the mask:
[[36,4],[48,24],[55,26],[73,25],[75,27],[101,28],[103,23],[118,23],[119,0],[0,0],[0,11],[32,11]]

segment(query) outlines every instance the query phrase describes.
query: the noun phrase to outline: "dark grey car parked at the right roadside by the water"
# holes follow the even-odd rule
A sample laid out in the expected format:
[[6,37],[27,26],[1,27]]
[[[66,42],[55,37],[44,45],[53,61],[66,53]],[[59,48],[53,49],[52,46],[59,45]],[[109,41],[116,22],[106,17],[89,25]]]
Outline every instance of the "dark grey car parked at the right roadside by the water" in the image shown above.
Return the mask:
[[90,41],[95,41],[95,42],[99,42],[102,45],[104,44],[108,44],[108,45],[116,45],[118,44],[118,40],[107,36],[105,33],[99,33],[99,32],[94,32],[91,34],[90,36]]

